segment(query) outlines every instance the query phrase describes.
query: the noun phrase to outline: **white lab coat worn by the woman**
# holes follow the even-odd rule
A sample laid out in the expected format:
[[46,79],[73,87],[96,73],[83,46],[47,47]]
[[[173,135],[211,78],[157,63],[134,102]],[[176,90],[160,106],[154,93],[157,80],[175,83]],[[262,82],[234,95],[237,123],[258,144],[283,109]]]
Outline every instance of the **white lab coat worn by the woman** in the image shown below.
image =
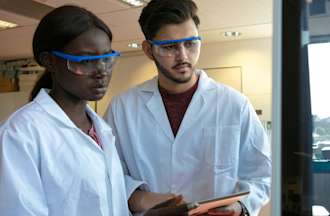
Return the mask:
[[[110,127],[86,108],[103,150],[45,90],[0,128],[1,216],[127,216]],[[135,187],[135,188],[134,188]]]

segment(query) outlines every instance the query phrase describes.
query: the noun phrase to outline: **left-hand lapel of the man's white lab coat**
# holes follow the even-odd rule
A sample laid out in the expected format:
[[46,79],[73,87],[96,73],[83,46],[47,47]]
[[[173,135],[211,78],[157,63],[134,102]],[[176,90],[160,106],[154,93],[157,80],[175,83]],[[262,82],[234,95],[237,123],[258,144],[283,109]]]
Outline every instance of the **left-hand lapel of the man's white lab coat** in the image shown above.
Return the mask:
[[158,90],[158,79],[155,77],[151,81],[147,82],[146,85],[142,86],[142,92],[144,94],[151,93],[152,96],[149,100],[146,100],[146,107],[151,112],[154,120],[160,126],[166,136],[173,141],[174,135],[171,129],[170,122],[167,117],[165,106],[162,97]]

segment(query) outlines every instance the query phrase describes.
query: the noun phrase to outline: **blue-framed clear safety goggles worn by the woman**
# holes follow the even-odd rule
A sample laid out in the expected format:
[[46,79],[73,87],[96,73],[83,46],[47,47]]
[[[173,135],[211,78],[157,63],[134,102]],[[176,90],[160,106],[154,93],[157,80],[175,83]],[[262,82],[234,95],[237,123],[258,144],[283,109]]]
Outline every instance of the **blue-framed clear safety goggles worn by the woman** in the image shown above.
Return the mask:
[[120,56],[120,53],[114,50],[111,53],[90,56],[71,55],[60,51],[51,51],[51,53],[65,59],[68,70],[77,75],[91,75],[96,71],[110,73],[116,57]]

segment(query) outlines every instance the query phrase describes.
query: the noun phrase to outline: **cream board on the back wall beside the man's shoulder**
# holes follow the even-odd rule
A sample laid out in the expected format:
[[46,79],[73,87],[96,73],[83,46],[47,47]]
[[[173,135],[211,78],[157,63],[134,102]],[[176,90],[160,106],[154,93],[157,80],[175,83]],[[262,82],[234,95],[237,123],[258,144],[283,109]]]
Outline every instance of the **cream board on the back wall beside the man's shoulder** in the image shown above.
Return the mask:
[[203,70],[215,81],[229,85],[234,89],[243,92],[241,67],[204,68]]

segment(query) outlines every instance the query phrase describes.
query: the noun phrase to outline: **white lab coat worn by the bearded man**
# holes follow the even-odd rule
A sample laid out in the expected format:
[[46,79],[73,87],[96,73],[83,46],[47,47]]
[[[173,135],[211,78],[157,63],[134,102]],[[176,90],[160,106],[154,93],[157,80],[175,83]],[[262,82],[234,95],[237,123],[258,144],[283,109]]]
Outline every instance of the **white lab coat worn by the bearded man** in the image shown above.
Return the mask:
[[124,169],[146,190],[183,194],[187,201],[250,190],[251,215],[269,199],[268,139],[247,98],[203,71],[174,137],[155,77],[111,102],[113,128]]

